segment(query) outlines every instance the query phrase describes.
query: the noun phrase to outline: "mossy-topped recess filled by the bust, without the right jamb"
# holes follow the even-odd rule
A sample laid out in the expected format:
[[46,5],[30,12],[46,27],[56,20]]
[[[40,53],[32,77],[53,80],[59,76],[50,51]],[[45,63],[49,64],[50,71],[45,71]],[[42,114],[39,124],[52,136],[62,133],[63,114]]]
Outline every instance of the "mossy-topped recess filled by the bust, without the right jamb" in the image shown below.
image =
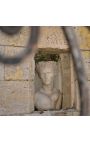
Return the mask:
[[[39,51],[35,56],[35,109],[41,112],[62,108],[59,54]],[[61,79],[60,79],[61,80]]]

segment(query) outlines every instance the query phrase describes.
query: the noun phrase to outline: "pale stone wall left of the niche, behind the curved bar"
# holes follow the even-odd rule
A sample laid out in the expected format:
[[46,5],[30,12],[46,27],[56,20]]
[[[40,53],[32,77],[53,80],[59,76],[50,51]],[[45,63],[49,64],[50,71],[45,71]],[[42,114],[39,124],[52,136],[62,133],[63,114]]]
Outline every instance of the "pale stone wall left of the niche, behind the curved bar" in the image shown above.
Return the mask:
[[[0,32],[0,51],[8,56],[24,50],[28,27],[9,37]],[[34,110],[34,55],[17,65],[0,64],[0,115],[31,113]]]

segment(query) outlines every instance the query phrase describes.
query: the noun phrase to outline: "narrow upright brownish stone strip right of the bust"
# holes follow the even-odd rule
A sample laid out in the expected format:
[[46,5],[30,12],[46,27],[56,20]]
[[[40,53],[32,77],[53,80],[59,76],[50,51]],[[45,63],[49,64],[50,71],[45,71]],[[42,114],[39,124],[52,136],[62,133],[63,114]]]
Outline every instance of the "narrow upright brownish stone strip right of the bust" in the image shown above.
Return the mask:
[[63,102],[62,108],[71,108],[71,63],[70,54],[62,53],[60,54],[61,59],[61,72],[62,72],[62,92],[63,92]]

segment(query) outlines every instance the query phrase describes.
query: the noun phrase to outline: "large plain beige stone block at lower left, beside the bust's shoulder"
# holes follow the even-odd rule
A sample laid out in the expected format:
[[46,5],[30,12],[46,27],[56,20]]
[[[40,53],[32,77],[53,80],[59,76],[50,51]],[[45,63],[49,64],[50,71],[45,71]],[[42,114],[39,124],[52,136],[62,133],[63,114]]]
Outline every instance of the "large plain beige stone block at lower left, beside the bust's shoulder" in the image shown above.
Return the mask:
[[31,113],[33,96],[28,81],[0,81],[0,115]]

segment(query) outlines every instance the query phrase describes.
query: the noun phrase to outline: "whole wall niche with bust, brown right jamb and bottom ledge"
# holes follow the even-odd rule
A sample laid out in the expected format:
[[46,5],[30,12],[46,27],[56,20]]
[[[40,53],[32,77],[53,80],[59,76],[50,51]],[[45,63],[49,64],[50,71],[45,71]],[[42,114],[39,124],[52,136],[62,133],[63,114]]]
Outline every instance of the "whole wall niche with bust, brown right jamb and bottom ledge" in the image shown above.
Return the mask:
[[38,50],[35,55],[35,115],[79,114],[72,91],[72,66],[69,52]]

